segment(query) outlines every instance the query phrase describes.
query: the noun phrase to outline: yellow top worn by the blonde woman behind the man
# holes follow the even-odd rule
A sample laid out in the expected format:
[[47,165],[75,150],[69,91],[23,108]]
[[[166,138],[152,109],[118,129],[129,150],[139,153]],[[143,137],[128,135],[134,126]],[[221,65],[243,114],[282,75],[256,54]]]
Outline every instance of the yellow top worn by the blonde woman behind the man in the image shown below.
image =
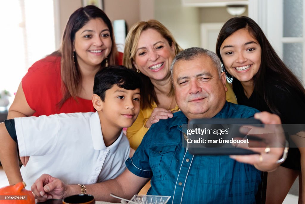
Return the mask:
[[[226,87],[228,88],[228,91],[226,92],[226,96],[227,96],[226,100],[228,102],[237,104],[237,100],[236,100],[235,94],[233,92],[233,89],[232,89],[230,83],[227,82]],[[145,128],[143,124],[146,123],[146,120],[152,114],[152,110],[156,107],[157,107],[157,104],[154,102],[152,104],[152,108],[148,107],[146,109],[141,109],[134,124],[132,124],[130,128],[127,128],[127,138],[129,140],[130,147],[132,149],[136,150],[138,148],[138,146],[140,145],[144,135],[148,131],[148,128]],[[178,109],[179,108],[176,105],[176,107],[174,109],[172,109],[171,111],[178,110]]]

